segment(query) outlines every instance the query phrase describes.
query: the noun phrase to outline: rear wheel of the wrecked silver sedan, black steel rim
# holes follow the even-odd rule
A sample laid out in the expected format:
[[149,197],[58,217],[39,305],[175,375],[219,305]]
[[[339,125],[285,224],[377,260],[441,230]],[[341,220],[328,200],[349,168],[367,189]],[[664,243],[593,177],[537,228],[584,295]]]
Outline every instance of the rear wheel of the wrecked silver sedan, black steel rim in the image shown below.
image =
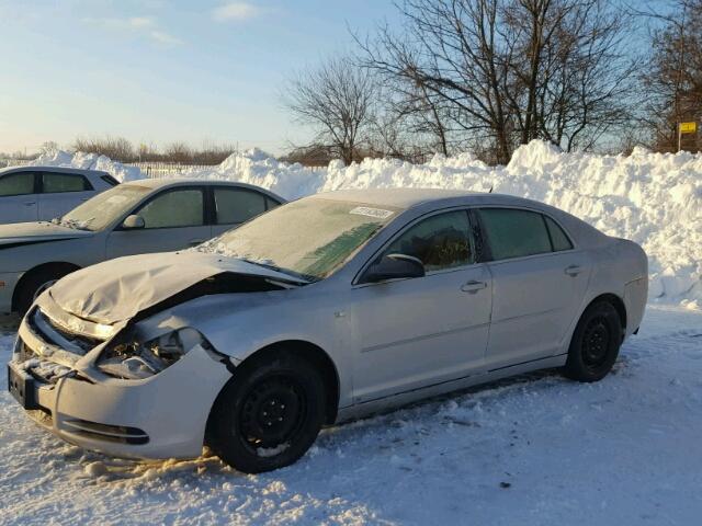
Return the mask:
[[622,344],[622,321],[609,301],[589,306],[578,321],[564,374],[577,381],[598,381],[604,378]]

